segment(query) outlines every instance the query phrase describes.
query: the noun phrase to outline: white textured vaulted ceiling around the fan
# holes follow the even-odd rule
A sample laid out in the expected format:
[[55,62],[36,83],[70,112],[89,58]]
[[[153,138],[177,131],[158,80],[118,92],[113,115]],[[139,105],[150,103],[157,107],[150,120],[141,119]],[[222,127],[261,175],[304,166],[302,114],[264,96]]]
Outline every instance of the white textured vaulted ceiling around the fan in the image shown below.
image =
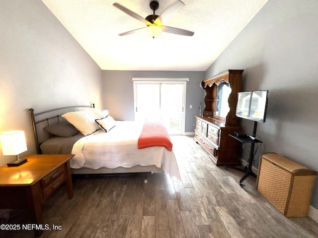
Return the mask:
[[[42,0],[83,49],[105,70],[205,71],[268,0],[183,0],[185,6],[164,25],[195,32],[118,36],[145,27],[112,4],[142,17],[151,0]],[[158,0],[157,15],[176,0]]]

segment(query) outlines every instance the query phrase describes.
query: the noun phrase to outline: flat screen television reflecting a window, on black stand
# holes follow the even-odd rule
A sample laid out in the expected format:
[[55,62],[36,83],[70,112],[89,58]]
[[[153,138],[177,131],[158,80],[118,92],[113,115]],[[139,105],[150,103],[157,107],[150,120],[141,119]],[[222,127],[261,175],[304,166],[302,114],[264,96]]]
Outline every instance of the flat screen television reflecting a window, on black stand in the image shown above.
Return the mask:
[[239,118],[265,122],[268,90],[239,92],[236,115]]

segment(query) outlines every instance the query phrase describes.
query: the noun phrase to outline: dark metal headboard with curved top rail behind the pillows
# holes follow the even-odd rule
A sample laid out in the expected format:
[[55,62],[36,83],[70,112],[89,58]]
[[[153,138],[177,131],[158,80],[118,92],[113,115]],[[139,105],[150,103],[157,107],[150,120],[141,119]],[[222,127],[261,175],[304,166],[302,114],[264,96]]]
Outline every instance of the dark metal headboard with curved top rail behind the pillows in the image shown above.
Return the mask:
[[[46,125],[50,124],[50,121],[52,119],[55,119],[55,121],[57,121],[57,123],[60,122],[60,117],[61,115],[55,115],[55,116],[51,116],[45,119],[40,119],[40,120],[36,120],[35,118],[37,116],[40,115],[44,115],[44,114],[48,114],[48,113],[52,113],[52,112],[56,112],[56,111],[61,111],[61,110],[65,110],[65,109],[75,109],[75,108],[95,108],[95,104],[91,104],[90,106],[69,106],[69,107],[63,107],[63,108],[56,108],[56,109],[52,109],[49,111],[45,111],[45,112],[41,112],[41,113],[34,113],[34,109],[30,108],[30,116],[31,116],[31,121],[32,121],[32,126],[33,126],[33,134],[34,134],[34,140],[35,140],[35,146],[36,146],[36,152],[37,154],[41,154],[41,149],[40,149],[40,141],[39,141],[39,134],[38,134],[38,129],[37,129],[37,124],[39,124],[40,122],[44,122],[46,121]],[[50,135],[51,136],[51,135]]]

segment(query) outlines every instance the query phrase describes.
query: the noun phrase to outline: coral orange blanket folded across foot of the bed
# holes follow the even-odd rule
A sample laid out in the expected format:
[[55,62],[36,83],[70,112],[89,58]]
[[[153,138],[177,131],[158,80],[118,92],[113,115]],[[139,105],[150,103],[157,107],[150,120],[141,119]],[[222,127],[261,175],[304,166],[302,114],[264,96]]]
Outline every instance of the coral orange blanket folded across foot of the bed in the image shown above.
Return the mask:
[[172,150],[172,143],[167,129],[160,121],[145,120],[144,127],[138,139],[138,149],[151,146],[163,146]]

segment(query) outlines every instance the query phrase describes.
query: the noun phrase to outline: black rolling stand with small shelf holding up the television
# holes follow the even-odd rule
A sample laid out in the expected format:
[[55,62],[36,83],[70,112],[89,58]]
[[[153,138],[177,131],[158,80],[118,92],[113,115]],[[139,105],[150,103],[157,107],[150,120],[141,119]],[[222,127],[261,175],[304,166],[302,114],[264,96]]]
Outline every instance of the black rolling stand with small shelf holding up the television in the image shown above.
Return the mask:
[[[256,128],[257,128],[257,121],[254,121],[254,127],[253,127],[253,134],[252,137],[255,137],[256,135]],[[239,140],[241,143],[250,143],[250,151],[249,151],[249,158],[248,158],[248,167],[243,168],[238,168],[238,167],[233,167],[233,166],[224,166],[224,168],[227,170],[229,169],[234,169],[240,172],[245,173],[245,175],[239,180],[239,185],[241,187],[244,186],[244,184],[242,184],[242,182],[248,177],[248,176],[253,176],[254,178],[256,178],[256,174],[252,171],[252,163],[254,160],[254,148],[255,148],[255,143],[263,143],[262,141],[258,140],[258,139],[250,139],[248,136],[246,137],[239,137],[235,134],[229,134],[231,137]]]

